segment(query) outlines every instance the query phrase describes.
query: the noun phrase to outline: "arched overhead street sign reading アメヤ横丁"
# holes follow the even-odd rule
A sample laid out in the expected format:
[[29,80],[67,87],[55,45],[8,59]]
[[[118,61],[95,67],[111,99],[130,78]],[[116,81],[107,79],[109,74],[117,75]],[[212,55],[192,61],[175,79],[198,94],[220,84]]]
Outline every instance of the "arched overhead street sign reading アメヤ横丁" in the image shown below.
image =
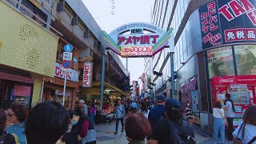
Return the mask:
[[[106,34],[102,31],[107,49],[113,50],[123,58],[152,57],[165,47],[173,46],[173,29],[162,30],[145,22],[134,22]],[[170,49],[171,50],[171,49]]]

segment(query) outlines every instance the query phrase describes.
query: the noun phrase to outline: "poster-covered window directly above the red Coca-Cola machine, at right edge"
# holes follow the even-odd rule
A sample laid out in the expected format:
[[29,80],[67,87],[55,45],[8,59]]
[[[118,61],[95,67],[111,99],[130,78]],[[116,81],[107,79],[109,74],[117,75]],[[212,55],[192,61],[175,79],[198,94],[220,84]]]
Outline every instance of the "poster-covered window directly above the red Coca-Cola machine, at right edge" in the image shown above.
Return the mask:
[[238,75],[256,74],[256,46],[234,46]]

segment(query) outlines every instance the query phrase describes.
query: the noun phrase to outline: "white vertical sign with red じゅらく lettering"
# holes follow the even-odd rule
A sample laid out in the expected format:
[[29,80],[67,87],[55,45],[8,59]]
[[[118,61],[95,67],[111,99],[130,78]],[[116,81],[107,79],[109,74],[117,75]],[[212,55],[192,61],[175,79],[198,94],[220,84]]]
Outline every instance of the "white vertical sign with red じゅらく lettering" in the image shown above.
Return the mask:
[[82,87],[91,87],[93,74],[93,62],[85,62],[83,65]]

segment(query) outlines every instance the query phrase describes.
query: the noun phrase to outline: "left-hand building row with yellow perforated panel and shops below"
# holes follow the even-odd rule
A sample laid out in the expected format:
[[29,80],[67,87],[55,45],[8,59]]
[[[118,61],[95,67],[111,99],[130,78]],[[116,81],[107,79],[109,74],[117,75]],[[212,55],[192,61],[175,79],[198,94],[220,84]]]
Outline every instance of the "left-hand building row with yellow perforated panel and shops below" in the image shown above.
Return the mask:
[[[62,62],[66,44],[74,48],[71,73],[66,82],[66,108],[74,109],[78,98],[85,99],[89,104],[98,100],[102,54],[106,54],[105,98],[129,96],[126,93],[130,88],[129,74],[116,54],[102,51],[106,47],[102,30],[82,1],[0,2],[2,18],[9,20],[0,23],[3,30],[0,40],[1,106],[7,108],[16,101],[26,102],[28,106],[34,106],[38,101],[61,102],[65,78]],[[15,42],[14,35],[17,35]],[[8,54],[11,57],[6,57]],[[92,66],[88,86],[82,84],[85,63]]]

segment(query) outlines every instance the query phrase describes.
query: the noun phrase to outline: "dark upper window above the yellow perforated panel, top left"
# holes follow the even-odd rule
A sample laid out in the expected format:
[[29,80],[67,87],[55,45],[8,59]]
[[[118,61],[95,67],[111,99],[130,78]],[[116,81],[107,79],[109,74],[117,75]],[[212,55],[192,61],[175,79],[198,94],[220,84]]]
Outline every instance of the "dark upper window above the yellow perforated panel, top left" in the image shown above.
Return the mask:
[[[21,7],[21,11],[23,14],[26,14],[30,18],[33,18],[36,22],[38,22],[41,26],[46,27],[47,22],[47,14],[43,13],[37,6],[34,6],[32,2],[29,0],[22,0],[22,5],[25,7]],[[26,10],[29,9],[29,10]]]

